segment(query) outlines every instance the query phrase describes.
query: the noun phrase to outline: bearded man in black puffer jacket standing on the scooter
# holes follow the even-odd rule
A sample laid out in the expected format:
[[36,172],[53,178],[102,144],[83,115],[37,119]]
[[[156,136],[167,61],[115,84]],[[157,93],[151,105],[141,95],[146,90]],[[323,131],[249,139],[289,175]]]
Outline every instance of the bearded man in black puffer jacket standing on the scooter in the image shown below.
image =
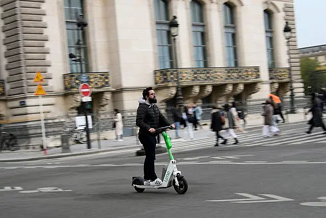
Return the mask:
[[143,96],[139,99],[137,109],[136,125],[139,129],[139,140],[145,150],[144,161],[144,185],[161,185],[162,181],[155,174],[155,129],[163,126],[175,128],[174,124],[168,122],[161,114],[157,105],[156,94],[152,87],[143,90]]

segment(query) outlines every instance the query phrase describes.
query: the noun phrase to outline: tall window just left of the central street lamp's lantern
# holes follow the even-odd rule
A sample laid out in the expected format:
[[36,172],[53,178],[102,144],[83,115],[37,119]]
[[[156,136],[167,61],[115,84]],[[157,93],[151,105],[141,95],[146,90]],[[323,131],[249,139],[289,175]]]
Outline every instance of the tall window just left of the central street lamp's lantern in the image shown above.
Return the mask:
[[159,68],[171,68],[171,36],[169,28],[169,5],[168,1],[155,0],[155,22],[158,46]]

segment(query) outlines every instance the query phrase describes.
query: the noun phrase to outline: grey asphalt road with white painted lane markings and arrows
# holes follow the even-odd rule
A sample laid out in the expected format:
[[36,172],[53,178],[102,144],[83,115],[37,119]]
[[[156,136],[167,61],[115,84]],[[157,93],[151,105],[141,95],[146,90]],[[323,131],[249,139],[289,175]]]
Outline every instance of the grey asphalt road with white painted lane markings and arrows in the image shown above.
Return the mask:
[[[310,137],[305,127],[281,130]],[[0,163],[0,217],[324,217],[326,136],[318,131],[318,143],[250,142],[259,129],[244,143],[256,146],[175,152],[185,195],[173,187],[136,192],[131,177],[143,175],[144,157],[131,153]],[[167,162],[157,156],[158,176]]]

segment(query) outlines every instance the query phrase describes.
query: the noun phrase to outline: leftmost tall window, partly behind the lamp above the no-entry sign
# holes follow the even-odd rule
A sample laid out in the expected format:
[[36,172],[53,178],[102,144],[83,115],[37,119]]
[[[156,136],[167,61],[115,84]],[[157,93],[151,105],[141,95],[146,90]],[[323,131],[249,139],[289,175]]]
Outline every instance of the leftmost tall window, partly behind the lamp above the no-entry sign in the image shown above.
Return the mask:
[[[80,54],[82,55],[83,59],[83,70],[84,72],[87,72],[89,69],[89,63],[86,32],[83,31],[83,33],[81,33],[76,24],[79,14],[84,14],[83,0],[65,0],[64,8],[66,17],[68,54],[72,53],[77,56],[77,48],[80,48]],[[69,58],[70,72],[81,72],[82,70],[80,69],[80,63],[73,60],[75,59]]]

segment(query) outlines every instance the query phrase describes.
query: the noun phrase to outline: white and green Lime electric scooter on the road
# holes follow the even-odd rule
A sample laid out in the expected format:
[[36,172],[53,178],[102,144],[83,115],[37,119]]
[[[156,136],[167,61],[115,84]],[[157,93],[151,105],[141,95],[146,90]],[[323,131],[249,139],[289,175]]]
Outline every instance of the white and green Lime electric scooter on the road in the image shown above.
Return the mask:
[[166,130],[173,129],[171,126],[157,128],[155,130],[156,133],[161,133],[164,137],[164,141],[167,147],[167,151],[169,154],[170,162],[166,164],[162,169],[162,184],[161,185],[144,185],[143,177],[132,177],[131,185],[138,192],[143,192],[145,188],[169,188],[173,185],[174,190],[179,194],[184,194],[188,190],[188,183],[185,178],[181,175],[181,171],[177,169],[177,161],[174,159],[171,148],[172,143],[170,136],[166,133]]

